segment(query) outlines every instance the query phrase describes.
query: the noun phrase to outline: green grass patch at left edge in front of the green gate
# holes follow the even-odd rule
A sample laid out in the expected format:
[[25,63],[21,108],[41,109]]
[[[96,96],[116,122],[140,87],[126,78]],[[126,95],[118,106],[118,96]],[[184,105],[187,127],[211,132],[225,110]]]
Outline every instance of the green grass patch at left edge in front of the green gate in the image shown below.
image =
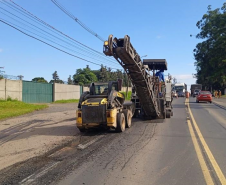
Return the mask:
[[0,100],[0,120],[27,114],[35,110],[41,110],[47,108],[48,105],[35,105],[28,104],[17,100],[8,98],[7,100]]

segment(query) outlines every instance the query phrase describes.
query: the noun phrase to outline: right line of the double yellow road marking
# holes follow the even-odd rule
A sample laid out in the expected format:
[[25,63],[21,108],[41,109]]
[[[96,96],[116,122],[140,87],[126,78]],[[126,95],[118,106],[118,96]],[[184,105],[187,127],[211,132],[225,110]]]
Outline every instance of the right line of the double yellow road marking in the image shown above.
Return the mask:
[[196,123],[196,121],[194,119],[194,116],[193,116],[193,114],[191,112],[188,99],[186,99],[186,104],[188,105],[188,111],[190,113],[190,116],[191,116],[192,122],[194,124],[195,130],[196,130],[196,132],[198,134],[198,137],[199,137],[199,139],[200,139],[200,141],[201,141],[201,143],[202,143],[202,145],[204,147],[204,150],[205,150],[205,152],[206,152],[206,154],[207,154],[207,156],[208,156],[208,158],[209,158],[209,160],[210,160],[210,162],[211,162],[211,164],[212,164],[212,166],[213,166],[213,168],[214,168],[214,170],[215,170],[215,172],[216,172],[221,184],[225,185],[226,184],[225,176],[222,173],[219,165],[217,164],[217,161],[215,160],[215,158],[214,158],[212,152],[210,151],[208,145],[206,144],[206,141],[205,141],[201,131],[199,130],[199,127],[198,127],[198,125],[197,125],[197,123]]

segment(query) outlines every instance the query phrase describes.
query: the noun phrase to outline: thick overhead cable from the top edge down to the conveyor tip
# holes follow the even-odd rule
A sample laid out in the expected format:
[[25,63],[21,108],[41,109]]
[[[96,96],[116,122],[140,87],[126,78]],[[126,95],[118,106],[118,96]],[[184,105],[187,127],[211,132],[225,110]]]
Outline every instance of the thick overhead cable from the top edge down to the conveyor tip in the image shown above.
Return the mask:
[[60,5],[57,0],[51,0],[58,8],[60,8],[64,13],[66,13],[70,18],[75,20],[80,26],[82,26],[86,31],[97,37],[101,41],[105,41],[101,36],[99,36],[97,33],[95,33],[92,29],[90,29],[88,26],[86,26],[82,21],[80,21],[77,17],[75,17],[72,13],[70,13],[68,10],[66,10],[62,5]]

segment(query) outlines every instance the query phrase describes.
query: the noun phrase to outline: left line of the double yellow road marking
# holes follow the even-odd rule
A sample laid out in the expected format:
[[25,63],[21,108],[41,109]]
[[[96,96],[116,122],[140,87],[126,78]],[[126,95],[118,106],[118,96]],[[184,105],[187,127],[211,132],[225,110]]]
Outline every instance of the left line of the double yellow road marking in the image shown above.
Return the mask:
[[193,130],[192,126],[191,126],[191,121],[190,120],[188,120],[188,127],[189,127],[189,131],[190,131],[190,134],[191,134],[191,138],[192,138],[194,147],[195,147],[196,154],[198,156],[199,164],[200,164],[200,166],[202,168],[202,173],[204,175],[206,184],[207,185],[214,184],[213,180],[211,178],[210,172],[208,170],[208,167],[206,165],[206,162],[204,160],[204,157],[202,155],[201,149],[199,147],[198,141],[197,141],[197,139],[195,137],[195,133],[194,133],[194,130]]

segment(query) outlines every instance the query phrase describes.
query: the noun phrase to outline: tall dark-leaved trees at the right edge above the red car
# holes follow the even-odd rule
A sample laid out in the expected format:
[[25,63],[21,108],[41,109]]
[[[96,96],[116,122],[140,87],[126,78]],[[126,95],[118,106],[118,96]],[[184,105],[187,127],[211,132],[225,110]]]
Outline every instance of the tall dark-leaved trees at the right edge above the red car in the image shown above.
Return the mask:
[[226,3],[215,10],[208,6],[206,14],[197,22],[203,39],[194,51],[197,83],[205,90],[226,88]]

